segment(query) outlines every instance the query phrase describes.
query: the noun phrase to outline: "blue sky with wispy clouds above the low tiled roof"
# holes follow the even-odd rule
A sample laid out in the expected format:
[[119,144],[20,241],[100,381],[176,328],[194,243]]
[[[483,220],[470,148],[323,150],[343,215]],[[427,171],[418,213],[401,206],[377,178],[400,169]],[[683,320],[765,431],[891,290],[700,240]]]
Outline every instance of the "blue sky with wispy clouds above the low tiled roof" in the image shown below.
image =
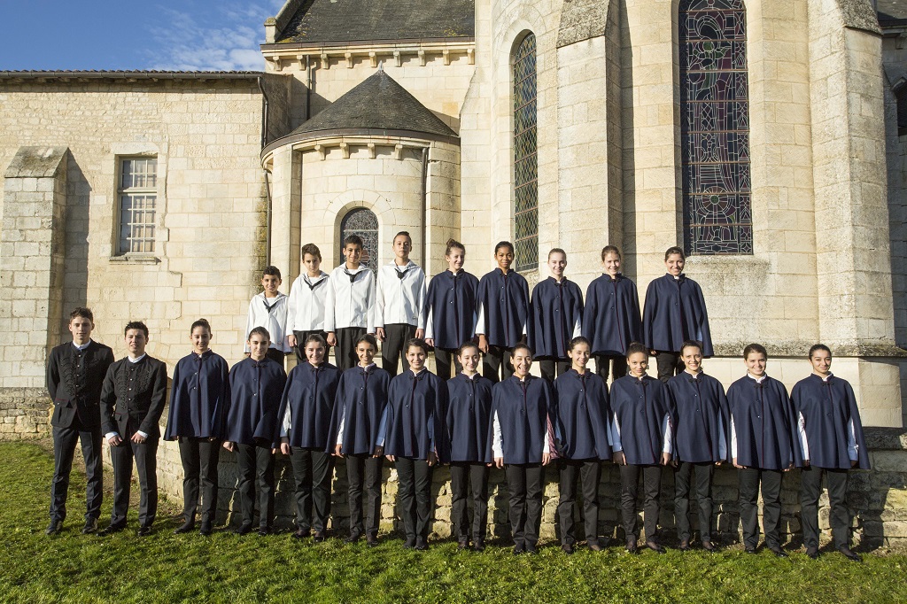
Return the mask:
[[283,0],[0,0],[0,71],[261,70]]

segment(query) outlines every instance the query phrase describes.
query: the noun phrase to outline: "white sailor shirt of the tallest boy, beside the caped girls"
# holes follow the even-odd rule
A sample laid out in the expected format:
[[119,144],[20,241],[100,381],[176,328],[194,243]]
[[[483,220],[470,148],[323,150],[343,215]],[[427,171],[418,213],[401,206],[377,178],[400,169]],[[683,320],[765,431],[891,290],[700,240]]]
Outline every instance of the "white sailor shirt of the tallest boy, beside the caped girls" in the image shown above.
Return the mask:
[[378,271],[375,326],[385,323],[425,328],[425,271],[412,260],[402,267],[391,262]]

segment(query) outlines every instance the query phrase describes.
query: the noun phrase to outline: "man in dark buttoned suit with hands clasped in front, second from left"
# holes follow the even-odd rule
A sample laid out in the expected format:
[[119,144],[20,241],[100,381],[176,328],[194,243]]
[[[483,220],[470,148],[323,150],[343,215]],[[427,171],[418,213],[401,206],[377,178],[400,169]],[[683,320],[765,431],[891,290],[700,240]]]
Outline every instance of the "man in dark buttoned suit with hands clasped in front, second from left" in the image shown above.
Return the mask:
[[111,445],[113,511],[101,531],[110,535],[126,528],[132,459],[139,471],[139,536],[151,534],[158,511],[157,453],[161,414],[167,401],[167,365],[145,354],[148,327],[141,321],[126,324],[128,356],[110,366],[101,391],[104,438]]

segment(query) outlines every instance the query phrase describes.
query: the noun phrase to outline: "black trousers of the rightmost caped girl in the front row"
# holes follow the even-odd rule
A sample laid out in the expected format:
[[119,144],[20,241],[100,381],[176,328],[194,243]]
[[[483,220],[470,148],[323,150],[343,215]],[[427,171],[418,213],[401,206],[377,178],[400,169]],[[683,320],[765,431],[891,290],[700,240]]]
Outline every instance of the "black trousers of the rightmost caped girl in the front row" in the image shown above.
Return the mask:
[[828,485],[831,506],[828,523],[832,525],[834,548],[850,547],[850,510],[847,508],[848,471],[838,468],[817,468],[811,465],[800,472],[800,519],[803,522],[803,542],[806,549],[819,547],[819,496],[822,494],[822,474]]

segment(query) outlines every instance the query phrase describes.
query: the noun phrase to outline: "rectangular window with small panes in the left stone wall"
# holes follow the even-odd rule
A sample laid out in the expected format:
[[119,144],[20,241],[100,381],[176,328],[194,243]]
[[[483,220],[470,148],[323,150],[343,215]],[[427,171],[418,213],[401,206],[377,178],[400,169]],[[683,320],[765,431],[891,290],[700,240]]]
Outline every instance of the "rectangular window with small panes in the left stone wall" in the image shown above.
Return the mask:
[[120,161],[120,237],[117,253],[154,253],[158,202],[158,159],[123,158]]

